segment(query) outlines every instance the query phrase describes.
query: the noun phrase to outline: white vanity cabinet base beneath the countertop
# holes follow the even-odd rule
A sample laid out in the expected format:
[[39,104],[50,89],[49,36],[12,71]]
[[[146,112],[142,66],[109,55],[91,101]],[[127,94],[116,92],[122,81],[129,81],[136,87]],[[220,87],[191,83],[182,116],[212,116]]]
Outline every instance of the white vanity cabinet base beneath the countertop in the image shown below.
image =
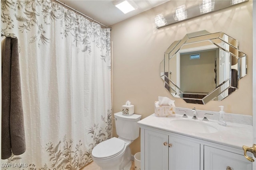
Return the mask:
[[252,170],[243,150],[141,127],[142,170]]

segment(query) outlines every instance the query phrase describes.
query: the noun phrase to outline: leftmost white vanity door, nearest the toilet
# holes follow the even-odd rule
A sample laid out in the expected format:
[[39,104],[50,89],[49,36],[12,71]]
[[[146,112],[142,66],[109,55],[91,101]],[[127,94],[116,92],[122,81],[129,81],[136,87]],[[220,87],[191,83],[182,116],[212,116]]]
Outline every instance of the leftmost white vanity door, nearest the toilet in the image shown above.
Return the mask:
[[168,135],[145,130],[145,170],[168,170]]

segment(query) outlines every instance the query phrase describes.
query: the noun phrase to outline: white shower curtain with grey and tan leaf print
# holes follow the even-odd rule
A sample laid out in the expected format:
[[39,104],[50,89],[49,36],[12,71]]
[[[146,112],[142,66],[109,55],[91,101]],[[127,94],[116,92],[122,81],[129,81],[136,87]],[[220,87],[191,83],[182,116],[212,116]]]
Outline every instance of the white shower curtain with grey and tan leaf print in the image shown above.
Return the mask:
[[112,136],[110,29],[51,0],[2,0],[1,19],[19,41],[26,135],[2,169],[82,168]]

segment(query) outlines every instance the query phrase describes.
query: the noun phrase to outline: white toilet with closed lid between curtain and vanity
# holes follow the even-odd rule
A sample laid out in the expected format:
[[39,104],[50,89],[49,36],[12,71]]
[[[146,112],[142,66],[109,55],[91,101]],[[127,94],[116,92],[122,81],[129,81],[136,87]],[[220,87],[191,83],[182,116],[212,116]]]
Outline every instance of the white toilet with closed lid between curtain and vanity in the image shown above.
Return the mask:
[[131,150],[129,145],[139,137],[138,121],[141,115],[122,115],[122,111],[114,113],[116,133],[112,137],[96,145],[92,149],[92,160],[101,170],[130,170]]

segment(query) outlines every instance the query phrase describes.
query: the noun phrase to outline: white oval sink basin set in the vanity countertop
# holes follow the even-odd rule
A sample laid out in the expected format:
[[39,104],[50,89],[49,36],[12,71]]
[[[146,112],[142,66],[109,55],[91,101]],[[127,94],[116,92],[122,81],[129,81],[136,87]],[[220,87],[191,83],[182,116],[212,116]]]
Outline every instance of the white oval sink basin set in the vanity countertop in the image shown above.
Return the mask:
[[171,125],[194,133],[215,133],[218,131],[214,126],[196,120],[174,119]]

